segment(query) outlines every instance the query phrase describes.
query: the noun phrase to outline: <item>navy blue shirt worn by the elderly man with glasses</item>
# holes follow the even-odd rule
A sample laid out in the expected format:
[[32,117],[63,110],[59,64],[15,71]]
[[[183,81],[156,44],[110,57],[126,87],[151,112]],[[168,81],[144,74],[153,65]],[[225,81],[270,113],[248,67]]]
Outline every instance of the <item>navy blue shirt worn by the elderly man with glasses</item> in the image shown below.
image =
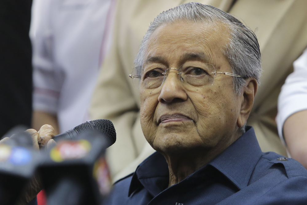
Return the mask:
[[117,181],[108,205],[307,204],[307,170],[296,160],[262,152],[249,127],[220,155],[168,187],[169,170],[158,152]]

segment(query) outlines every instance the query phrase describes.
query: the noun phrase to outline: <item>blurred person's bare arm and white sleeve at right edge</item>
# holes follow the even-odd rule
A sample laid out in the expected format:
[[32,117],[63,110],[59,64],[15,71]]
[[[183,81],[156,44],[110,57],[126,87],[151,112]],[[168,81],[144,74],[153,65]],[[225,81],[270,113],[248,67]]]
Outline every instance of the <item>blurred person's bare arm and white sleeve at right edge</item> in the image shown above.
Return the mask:
[[278,97],[278,133],[290,156],[307,168],[307,50],[293,63]]

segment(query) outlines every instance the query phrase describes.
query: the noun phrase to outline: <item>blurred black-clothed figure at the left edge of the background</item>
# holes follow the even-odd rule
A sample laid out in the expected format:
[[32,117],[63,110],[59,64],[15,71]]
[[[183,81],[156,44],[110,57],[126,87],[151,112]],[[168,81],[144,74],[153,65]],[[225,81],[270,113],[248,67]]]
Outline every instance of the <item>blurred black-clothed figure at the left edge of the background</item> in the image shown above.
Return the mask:
[[0,139],[17,125],[31,125],[32,0],[0,1]]

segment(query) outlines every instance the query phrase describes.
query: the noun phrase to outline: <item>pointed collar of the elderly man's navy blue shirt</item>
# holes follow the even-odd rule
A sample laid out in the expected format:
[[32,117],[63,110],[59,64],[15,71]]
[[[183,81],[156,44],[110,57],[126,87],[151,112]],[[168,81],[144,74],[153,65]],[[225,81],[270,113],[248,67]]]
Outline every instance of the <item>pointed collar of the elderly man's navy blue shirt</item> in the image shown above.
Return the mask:
[[[261,156],[262,151],[256,139],[254,128],[247,127],[247,131],[239,137],[238,140],[232,143],[208,164],[223,173],[223,175],[235,184],[236,187],[242,189],[247,186],[251,174]],[[196,172],[201,171],[208,164],[204,165],[204,167]],[[144,160],[134,172],[128,196],[139,187],[152,187],[148,191],[150,191],[153,196],[157,195],[163,187],[155,188],[154,186],[157,186],[157,184],[153,185],[152,183],[154,180],[152,179],[165,179],[165,177],[169,177],[168,164],[164,156],[155,152]],[[166,181],[168,183],[168,180]],[[168,184],[159,183],[159,185],[165,186],[164,188],[166,188]]]

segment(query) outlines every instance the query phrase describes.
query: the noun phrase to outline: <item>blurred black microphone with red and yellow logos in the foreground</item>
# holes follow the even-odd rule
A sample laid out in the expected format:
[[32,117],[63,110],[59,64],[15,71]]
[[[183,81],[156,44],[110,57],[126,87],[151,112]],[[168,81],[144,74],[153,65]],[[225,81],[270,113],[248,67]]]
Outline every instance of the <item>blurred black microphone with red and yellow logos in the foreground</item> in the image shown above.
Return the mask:
[[[111,136],[115,135],[110,133]],[[104,158],[109,146],[95,129],[61,140],[45,152],[38,171],[49,205],[99,205],[111,188]]]

